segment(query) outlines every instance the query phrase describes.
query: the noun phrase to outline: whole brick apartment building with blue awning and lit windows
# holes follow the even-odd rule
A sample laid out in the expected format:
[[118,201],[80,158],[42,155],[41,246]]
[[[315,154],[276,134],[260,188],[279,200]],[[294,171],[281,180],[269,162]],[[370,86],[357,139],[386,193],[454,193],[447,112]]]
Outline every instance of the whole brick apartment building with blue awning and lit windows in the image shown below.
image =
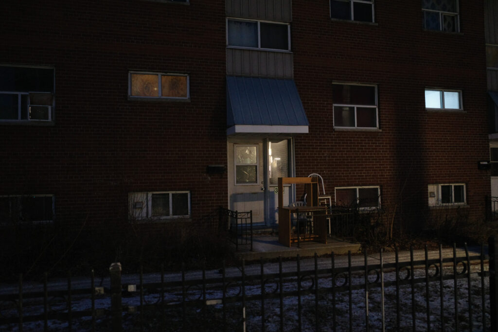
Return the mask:
[[480,1],[1,7],[2,222],[167,227],[223,206],[274,227],[276,179],[311,173],[404,227],[485,216]]

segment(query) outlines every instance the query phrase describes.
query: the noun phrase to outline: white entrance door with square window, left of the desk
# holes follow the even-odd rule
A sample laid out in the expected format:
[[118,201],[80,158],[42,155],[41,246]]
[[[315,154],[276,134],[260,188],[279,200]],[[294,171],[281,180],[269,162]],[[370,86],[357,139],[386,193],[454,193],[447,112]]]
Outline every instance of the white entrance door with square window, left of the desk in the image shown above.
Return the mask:
[[263,142],[228,143],[230,210],[252,211],[252,222],[264,222]]

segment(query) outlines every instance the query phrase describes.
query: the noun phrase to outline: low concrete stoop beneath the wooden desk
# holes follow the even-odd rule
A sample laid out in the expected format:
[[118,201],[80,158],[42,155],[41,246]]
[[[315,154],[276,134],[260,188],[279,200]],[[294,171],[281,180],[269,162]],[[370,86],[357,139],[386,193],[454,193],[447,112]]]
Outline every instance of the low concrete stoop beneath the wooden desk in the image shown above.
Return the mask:
[[278,236],[271,236],[268,234],[254,235],[252,239],[252,251],[249,246],[239,246],[239,250],[235,253],[240,259],[246,261],[253,261],[263,259],[273,259],[282,256],[283,258],[296,257],[312,257],[315,252],[321,256],[325,254],[335,255],[351,253],[359,253],[361,250],[360,243],[352,243],[343,241],[336,238],[328,238],[327,244],[309,241],[301,242],[299,247],[297,243],[292,246],[286,247],[278,242]]

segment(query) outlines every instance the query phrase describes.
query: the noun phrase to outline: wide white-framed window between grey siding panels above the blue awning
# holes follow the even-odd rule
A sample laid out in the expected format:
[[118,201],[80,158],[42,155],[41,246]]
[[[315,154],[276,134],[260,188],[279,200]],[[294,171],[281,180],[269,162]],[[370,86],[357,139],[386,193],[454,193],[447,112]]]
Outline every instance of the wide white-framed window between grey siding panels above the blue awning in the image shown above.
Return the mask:
[[287,23],[228,19],[227,45],[289,51],[290,25]]

